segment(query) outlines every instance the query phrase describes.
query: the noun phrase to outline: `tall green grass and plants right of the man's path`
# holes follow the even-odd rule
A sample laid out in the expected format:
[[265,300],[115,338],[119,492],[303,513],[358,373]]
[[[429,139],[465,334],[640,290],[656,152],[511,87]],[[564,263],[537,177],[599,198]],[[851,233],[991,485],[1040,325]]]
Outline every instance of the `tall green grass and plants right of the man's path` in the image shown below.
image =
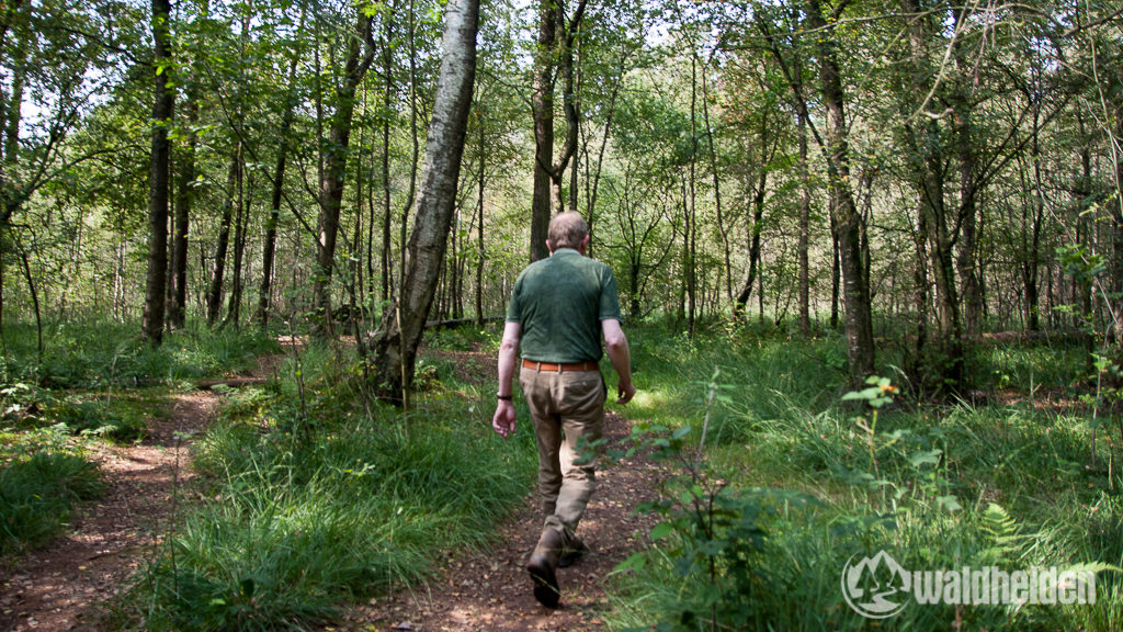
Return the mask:
[[[632,337],[643,392],[627,414],[667,428],[679,473],[649,507],[664,517],[652,547],[614,576],[614,629],[1119,630],[1123,478],[1103,428],[1093,467],[1079,352],[979,349],[979,381],[1002,398],[874,409],[840,401],[838,340]],[[842,571],[879,551],[906,570],[1094,570],[1096,603],[898,596],[898,614],[871,620],[847,603]],[[891,586],[882,572],[864,581]]]

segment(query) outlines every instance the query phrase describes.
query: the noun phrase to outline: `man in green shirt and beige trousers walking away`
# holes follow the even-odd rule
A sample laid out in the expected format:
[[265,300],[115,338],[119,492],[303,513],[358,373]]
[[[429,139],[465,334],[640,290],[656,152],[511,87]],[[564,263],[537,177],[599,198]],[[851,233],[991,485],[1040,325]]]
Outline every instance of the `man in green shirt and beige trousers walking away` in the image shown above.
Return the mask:
[[596,449],[604,428],[604,379],[597,362],[601,336],[620,380],[618,404],[636,395],[628,338],[620,328],[620,300],[612,270],[585,256],[588,226],[577,213],[554,216],[546,246],[550,256],[519,274],[506,310],[499,351],[499,403],[492,427],[514,432],[511,381],[522,346],[519,386],[538,442],[538,494],[545,522],[527,570],[535,598],[557,607],[558,568],[587,549],[577,523],[596,485]]

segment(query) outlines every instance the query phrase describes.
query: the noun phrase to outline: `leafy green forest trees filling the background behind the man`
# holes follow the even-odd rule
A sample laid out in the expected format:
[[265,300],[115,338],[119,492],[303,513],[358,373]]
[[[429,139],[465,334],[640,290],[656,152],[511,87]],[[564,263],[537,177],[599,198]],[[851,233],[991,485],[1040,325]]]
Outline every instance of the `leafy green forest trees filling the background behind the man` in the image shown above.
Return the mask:
[[287,323],[411,373],[394,323],[502,314],[573,209],[630,318],[839,328],[855,383],[876,338],[955,391],[987,332],[1119,337],[1112,3],[486,2],[431,225],[445,12],[6,2],[4,322]]

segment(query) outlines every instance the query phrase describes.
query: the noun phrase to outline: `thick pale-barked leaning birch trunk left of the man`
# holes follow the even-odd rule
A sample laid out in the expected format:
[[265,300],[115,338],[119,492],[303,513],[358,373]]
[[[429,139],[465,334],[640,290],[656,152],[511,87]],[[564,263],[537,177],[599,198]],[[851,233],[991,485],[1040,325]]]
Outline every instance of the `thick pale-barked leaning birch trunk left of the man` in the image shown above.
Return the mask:
[[453,0],[445,15],[440,74],[426,146],[421,195],[409,243],[410,265],[396,309],[374,341],[374,380],[382,396],[408,405],[417,349],[429,317],[456,208],[456,187],[476,69],[478,0]]

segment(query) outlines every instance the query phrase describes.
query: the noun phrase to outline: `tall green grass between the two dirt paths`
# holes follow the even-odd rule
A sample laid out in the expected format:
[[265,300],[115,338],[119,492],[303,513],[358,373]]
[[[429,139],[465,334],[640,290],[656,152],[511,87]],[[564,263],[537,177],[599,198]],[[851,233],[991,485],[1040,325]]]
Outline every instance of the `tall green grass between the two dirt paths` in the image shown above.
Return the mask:
[[491,431],[493,385],[463,381],[447,354],[423,363],[408,414],[364,405],[348,352],[321,347],[234,395],[197,442],[208,499],[166,540],[122,625],[305,629],[486,542],[533,477],[532,439]]

